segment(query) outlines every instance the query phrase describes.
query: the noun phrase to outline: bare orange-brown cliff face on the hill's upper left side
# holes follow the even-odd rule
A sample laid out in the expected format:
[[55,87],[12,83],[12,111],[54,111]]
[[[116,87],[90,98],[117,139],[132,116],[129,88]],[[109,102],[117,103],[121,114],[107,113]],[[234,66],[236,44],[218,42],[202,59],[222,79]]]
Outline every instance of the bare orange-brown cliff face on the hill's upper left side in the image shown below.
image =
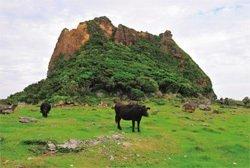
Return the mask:
[[71,54],[89,40],[89,37],[86,22],[79,23],[77,29],[70,31],[66,28],[63,29],[49,62],[49,71],[53,68],[54,62],[59,58],[60,54],[64,54],[66,60],[69,59]]

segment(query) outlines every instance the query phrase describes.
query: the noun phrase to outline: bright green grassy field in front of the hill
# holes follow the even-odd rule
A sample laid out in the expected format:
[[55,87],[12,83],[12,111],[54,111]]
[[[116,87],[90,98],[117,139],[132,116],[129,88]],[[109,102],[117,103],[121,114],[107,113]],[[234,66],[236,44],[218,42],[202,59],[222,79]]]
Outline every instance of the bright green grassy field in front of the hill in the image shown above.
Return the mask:
[[[1,167],[250,167],[250,109],[213,105],[220,114],[186,113],[178,102],[145,103],[151,115],[142,119],[141,133],[132,133],[129,121],[122,121],[123,130],[117,130],[110,107],[57,107],[46,119],[38,106],[18,107],[14,114],[1,115]],[[20,116],[38,122],[22,124]],[[130,145],[105,142],[80,152],[42,154],[23,143],[117,133]]]

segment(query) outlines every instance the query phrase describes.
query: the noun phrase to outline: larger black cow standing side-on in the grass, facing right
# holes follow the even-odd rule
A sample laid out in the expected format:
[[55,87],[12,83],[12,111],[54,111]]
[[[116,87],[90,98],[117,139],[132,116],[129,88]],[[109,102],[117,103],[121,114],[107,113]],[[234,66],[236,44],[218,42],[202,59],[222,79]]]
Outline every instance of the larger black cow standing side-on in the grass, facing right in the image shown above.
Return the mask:
[[122,129],[120,125],[121,119],[132,120],[132,131],[135,132],[135,121],[137,121],[137,129],[140,132],[140,121],[142,116],[148,116],[147,110],[149,107],[138,105],[138,104],[128,104],[124,105],[121,103],[115,104],[115,122],[117,123],[117,128]]

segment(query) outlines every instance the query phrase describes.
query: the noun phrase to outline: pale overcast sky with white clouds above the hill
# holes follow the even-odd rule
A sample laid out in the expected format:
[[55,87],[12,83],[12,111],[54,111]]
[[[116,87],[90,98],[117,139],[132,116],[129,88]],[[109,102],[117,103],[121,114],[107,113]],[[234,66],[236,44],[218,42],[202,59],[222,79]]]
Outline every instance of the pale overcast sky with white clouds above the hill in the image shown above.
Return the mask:
[[218,97],[250,96],[249,0],[0,0],[0,98],[46,77],[63,28],[104,15],[115,26],[171,30]]

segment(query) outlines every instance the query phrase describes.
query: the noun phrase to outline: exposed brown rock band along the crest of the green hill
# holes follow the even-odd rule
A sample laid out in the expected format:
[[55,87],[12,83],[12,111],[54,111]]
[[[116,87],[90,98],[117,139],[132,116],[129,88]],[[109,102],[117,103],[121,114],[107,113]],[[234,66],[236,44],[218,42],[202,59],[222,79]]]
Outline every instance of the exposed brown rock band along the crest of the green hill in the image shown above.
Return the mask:
[[[52,54],[48,67],[48,74],[52,72],[53,67],[60,55],[62,55],[65,60],[70,59],[81,46],[84,46],[98,33],[102,37],[105,36],[108,40],[127,46],[134,45],[140,39],[145,39],[150,43],[152,42],[152,44],[159,46],[162,52],[167,53],[170,57],[178,60],[177,66],[181,73],[189,73],[187,69],[192,69],[192,67],[187,67],[187,65],[195,64],[195,62],[175,43],[172,38],[171,31],[166,30],[164,33],[157,36],[148,32],[136,31],[122,24],[115,27],[107,17],[103,16],[79,23],[76,29],[63,29]],[[187,61],[189,61],[189,63],[187,63]],[[202,70],[200,70],[200,74],[201,76],[206,76]],[[211,83],[208,77],[190,80],[194,81],[197,86],[202,88],[209,86]],[[211,94],[211,97],[213,95],[214,93]]]

